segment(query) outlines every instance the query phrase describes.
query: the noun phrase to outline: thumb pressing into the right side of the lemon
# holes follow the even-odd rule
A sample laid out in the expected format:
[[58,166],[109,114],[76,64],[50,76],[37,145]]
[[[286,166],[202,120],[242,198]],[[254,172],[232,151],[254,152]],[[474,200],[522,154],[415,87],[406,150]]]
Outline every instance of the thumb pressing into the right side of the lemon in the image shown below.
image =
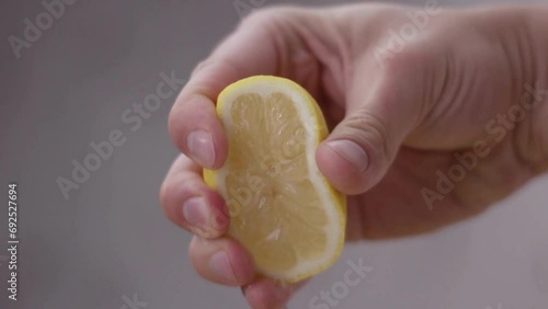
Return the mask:
[[376,185],[419,122],[424,84],[395,76],[369,85],[366,95],[363,85],[354,87],[344,119],[317,149],[319,170],[344,194],[361,194]]

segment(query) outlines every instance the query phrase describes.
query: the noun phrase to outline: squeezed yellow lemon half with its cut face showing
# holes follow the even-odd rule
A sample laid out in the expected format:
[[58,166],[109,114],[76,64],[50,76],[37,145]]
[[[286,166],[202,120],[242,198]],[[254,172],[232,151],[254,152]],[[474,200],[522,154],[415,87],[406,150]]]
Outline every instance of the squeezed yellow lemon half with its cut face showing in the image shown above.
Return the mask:
[[316,101],[290,80],[256,76],[227,87],[217,113],[228,159],[204,179],[227,202],[230,237],[272,278],[293,283],[329,267],[343,248],[346,205],[316,165],[328,135]]

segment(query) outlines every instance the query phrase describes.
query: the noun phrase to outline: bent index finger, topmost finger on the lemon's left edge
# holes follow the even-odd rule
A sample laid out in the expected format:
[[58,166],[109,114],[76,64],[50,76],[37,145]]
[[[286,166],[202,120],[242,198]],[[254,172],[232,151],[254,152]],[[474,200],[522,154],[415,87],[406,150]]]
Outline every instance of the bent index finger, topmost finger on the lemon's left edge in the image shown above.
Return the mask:
[[270,14],[250,18],[196,67],[176,99],[169,131],[175,146],[204,168],[219,168],[228,147],[215,112],[217,95],[228,84],[254,75],[275,75],[279,53]]

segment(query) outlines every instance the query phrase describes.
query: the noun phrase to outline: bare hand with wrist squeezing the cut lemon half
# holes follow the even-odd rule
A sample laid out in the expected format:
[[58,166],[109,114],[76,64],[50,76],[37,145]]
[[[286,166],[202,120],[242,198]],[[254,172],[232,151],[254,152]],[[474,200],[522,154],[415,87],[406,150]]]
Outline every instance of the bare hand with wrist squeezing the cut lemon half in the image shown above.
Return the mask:
[[[349,195],[349,240],[432,231],[546,171],[548,27],[539,26],[546,10],[421,11],[419,24],[406,14],[415,10],[261,11],[197,66],[170,114],[171,137],[184,154],[165,178],[161,202],[173,222],[195,234],[190,256],[203,277],[244,286],[253,308],[278,308],[296,288],[255,274],[244,249],[224,236],[222,197],[202,180],[203,167],[219,168],[227,158],[216,98],[244,77],[289,78],[321,105],[332,133],[317,163]],[[401,35],[406,24],[414,35]]]

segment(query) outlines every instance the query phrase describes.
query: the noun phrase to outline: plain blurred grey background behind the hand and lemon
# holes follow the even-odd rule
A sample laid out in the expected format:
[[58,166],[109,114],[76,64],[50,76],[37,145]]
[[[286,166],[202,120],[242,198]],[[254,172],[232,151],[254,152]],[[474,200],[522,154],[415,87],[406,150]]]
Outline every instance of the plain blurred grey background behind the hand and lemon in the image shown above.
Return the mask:
[[[0,176],[5,195],[10,181],[19,183],[21,240],[14,302],[7,298],[2,207],[0,308],[247,308],[239,289],[194,273],[190,234],[159,206],[158,188],[178,154],[167,115],[181,84],[149,113],[139,115],[133,104],[156,93],[162,73],[186,79],[246,13],[236,2],[350,1],[71,1],[20,55],[9,37],[23,37],[25,19],[34,23],[47,11],[42,1],[0,4]],[[96,170],[79,174],[82,184],[64,195],[58,180],[72,179],[73,160],[83,163],[95,153],[90,145],[113,134],[123,144],[106,159],[89,159]],[[319,301],[328,307],[318,308],[546,309],[547,185],[547,178],[538,179],[486,214],[429,236],[350,245],[287,308],[310,308],[329,291],[336,304]],[[358,285],[344,288],[352,262],[370,268]]]

